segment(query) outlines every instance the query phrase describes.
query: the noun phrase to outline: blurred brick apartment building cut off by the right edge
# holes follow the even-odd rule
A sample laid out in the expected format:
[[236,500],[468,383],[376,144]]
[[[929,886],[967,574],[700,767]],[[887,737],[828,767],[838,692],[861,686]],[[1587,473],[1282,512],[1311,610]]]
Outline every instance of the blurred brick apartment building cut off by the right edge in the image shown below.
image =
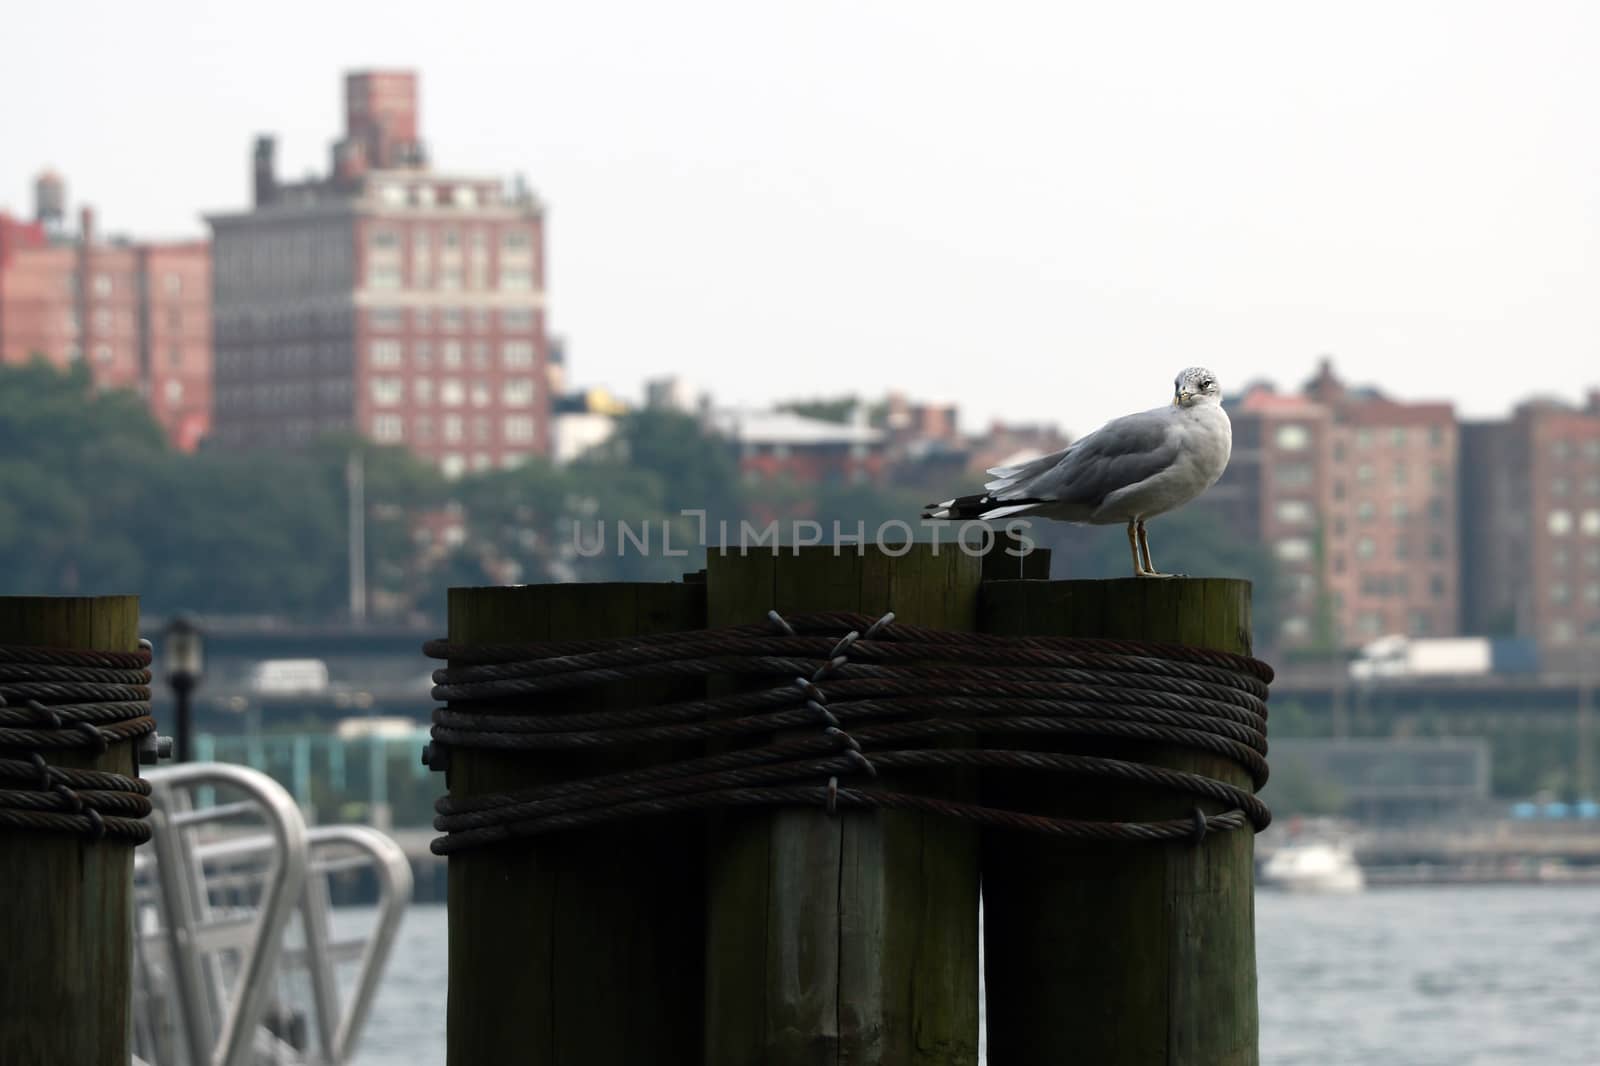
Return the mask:
[[1600,656],[1600,391],[1462,427],[1469,632],[1530,635],[1547,664]]

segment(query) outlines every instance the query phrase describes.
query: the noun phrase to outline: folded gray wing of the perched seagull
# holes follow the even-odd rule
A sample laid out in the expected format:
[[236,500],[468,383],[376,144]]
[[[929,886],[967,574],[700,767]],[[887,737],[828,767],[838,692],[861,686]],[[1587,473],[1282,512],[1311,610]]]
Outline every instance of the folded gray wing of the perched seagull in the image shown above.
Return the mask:
[[1158,407],[1109,421],[1074,442],[1051,467],[1006,485],[995,496],[1050,499],[1093,511],[1118,488],[1138,485],[1176,461],[1176,410]]

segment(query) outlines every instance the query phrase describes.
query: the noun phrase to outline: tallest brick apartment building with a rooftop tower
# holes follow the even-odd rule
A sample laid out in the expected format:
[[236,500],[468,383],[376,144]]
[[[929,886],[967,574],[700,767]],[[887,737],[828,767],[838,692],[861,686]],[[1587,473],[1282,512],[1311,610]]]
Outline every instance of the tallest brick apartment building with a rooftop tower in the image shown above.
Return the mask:
[[414,74],[350,74],[344,102],[326,178],[280,182],[259,138],[253,208],[208,218],[218,445],[354,431],[448,475],[544,455],[542,208],[429,165]]

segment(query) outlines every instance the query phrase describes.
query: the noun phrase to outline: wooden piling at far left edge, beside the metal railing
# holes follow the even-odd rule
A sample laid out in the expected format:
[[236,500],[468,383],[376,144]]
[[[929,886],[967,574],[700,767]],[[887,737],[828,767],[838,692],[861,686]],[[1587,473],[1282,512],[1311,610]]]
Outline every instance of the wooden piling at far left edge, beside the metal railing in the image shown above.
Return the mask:
[[[139,597],[0,597],[0,645],[136,651]],[[50,749],[54,767],[138,775],[133,741]],[[0,757],[27,752],[0,747]],[[128,1066],[133,845],[0,828],[0,1063]]]

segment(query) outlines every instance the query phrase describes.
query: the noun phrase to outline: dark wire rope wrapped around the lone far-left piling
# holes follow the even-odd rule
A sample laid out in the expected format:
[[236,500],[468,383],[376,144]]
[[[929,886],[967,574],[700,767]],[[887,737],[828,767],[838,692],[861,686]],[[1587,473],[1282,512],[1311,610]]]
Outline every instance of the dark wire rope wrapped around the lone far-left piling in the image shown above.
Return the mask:
[[104,752],[154,731],[147,642],[138,651],[0,645],[0,828],[149,840],[147,781],[53,767],[43,751]]

